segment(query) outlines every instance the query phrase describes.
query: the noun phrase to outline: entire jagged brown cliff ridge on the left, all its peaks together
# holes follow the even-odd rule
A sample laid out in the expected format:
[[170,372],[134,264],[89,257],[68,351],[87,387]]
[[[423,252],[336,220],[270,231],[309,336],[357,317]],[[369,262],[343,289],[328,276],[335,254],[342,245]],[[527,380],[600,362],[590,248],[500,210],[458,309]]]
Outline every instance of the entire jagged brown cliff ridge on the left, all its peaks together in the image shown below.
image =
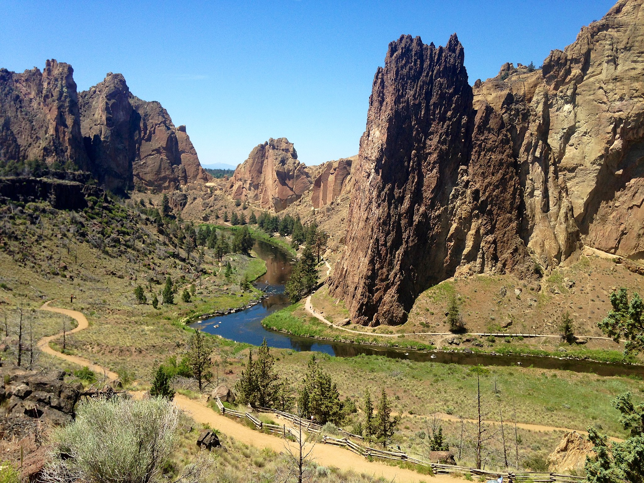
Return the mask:
[[77,93],[71,66],[53,60],[43,72],[0,70],[0,158],[70,162],[113,191],[210,180],[185,126],[158,102],[138,99],[113,73]]

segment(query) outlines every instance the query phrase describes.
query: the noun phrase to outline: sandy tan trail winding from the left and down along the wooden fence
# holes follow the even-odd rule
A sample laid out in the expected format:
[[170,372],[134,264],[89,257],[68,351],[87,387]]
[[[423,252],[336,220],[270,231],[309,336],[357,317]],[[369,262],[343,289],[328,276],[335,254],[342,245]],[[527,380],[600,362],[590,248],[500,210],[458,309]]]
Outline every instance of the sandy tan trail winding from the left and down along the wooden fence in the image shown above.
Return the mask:
[[[41,310],[57,312],[59,314],[72,317],[78,322],[78,327],[70,330],[68,333],[71,334],[73,332],[79,332],[80,330],[84,330],[88,327],[89,324],[87,318],[81,312],[70,310],[68,308],[50,307],[50,302],[52,301],[45,303],[41,307]],[[38,341],[38,346],[43,350],[43,352],[46,352],[46,354],[60,357],[61,359],[80,366],[88,366],[95,372],[107,374],[109,379],[118,379],[118,374],[106,370],[106,368],[103,368],[102,366],[93,364],[91,361],[88,361],[88,359],[77,357],[76,355],[61,354],[61,352],[53,350],[49,346],[50,341],[61,336],[62,332],[55,334],[54,336],[43,337]],[[234,437],[234,439],[241,441],[244,444],[256,446],[258,448],[270,448],[277,452],[285,451],[285,440],[276,436],[251,430],[251,428],[238,424],[232,419],[214,412],[211,408],[205,406],[202,401],[196,401],[189,399],[184,395],[176,394],[175,404],[185,412],[189,413],[189,415],[193,417],[194,421],[202,424],[208,423],[213,428],[217,428],[222,431],[223,434]],[[429,480],[434,483],[449,483],[454,481],[454,478],[448,475],[428,477],[426,475],[415,473],[415,471],[410,471],[409,469],[397,468],[396,466],[389,466],[380,462],[369,462],[351,451],[337,448],[336,446],[329,446],[327,444],[316,444],[312,455],[317,464],[321,464],[323,466],[335,466],[343,471],[352,470],[357,473],[365,473],[370,476],[373,475],[374,478],[383,477],[390,482],[417,483]]]

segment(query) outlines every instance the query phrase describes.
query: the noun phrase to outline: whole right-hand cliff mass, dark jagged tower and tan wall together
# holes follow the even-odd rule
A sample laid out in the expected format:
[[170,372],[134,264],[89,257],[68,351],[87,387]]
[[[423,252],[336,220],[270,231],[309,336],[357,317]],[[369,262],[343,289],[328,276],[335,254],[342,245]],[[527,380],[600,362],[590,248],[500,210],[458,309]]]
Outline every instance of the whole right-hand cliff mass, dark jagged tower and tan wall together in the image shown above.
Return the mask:
[[354,321],[403,323],[437,281],[536,276],[582,242],[644,258],[640,6],[620,1],[542,70],[506,64],[474,88],[455,35],[390,44],[330,282]]

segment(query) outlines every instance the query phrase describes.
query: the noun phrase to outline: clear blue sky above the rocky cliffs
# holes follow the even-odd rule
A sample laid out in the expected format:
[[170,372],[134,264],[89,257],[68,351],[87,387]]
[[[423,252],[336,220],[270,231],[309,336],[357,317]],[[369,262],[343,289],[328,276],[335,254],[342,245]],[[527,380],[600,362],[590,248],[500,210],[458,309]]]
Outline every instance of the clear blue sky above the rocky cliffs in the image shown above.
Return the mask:
[[357,153],[375,70],[403,33],[457,32],[471,84],[564,48],[613,5],[564,1],[3,1],[0,66],[69,62],[79,90],[109,71],[185,124],[202,164],[287,137],[319,164]]

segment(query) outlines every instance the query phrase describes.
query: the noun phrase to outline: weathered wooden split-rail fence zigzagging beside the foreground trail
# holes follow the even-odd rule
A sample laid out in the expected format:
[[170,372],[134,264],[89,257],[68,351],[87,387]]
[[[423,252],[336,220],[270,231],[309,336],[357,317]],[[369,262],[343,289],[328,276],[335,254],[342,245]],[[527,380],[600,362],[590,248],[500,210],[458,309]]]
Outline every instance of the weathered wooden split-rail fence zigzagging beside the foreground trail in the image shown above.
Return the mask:
[[[251,421],[255,425],[255,427],[258,428],[258,430],[269,430],[272,433],[281,433],[283,436],[286,436],[288,434],[294,437],[296,440],[299,440],[298,431],[294,431],[293,428],[287,428],[285,424],[283,424],[282,426],[279,426],[279,424],[268,424],[266,422],[260,421],[260,419],[257,419],[256,417],[254,417],[251,413],[245,413],[245,412],[235,411],[235,410],[226,408],[219,398],[216,398],[215,402],[220,412],[222,413],[222,415],[231,414],[236,417],[245,418]],[[260,410],[261,412],[275,413],[283,417],[284,419],[287,419],[287,421],[297,424],[298,426],[301,424],[301,428],[305,431],[308,431],[311,433],[317,433],[317,434],[321,433],[322,431],[322,426],[320,426],[319,424],[316,424],[315,422],[312,422],[312,421],[308,421],[307,419],[302,419],[294,414],[290,414],[287,412],[274,410],[270,408],[260,407],[257,409]],[[342,432],[348,435],[349,437],[354,437],[355,439],[364,440],[362,436],[348,433],[348,431],[342,431]],[[497,479],[498,477],[502,476],[507,483],[554,483],[554,482],[578,483],[578,482],[581,482],[582,480],[585,480],[585,478],[583,477],[575,477],[573,475],[561,475],[559,473],[538,473],[534,471],[522,471],[520,473],[516,473],[513,471],[487,471],[485,469],[466,468],[465,466],[458,466],[453,464],[432,463],[432,462],[411,457],[407,453],[404,453],[403,451],[385,451],[385,450],[379,450],[377,448],[370,448],[369,446],[363,447],[363,446],[360,446],[359,444],[356,444],[355,442],[348,439],[347,437],[333,438],[327,435],[322,435],[322,442],[325,444],[331,444],[333,446],[341,446],[343,448],[347,448],[348,450],[353,451],[357,455],[365,457],[366,459],[377,458],[377,459],[383,459],[383,460],[403,461],[403,462],[409,462],[411,464],[416,464],[419,466],[426,466],[428,468],[431,468],[432,473],[435,475],[441,475],[441,474],[448,475],[451,473],[462,473],[462,474],[470,473],[471,475],[489,477],[493,479]]]

